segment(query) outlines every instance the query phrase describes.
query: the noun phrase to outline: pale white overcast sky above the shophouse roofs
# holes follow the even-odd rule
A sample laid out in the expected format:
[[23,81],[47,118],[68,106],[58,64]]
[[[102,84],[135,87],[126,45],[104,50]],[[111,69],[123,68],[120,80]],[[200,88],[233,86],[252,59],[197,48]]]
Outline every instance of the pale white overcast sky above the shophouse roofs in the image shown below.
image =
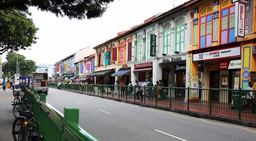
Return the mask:
[[[38,11],[31,7],[31,18],[39,28],[36,36],[37,43],[32,50],[21,50],[19,54],[37,64],[55,64],[64,57],[79,51],[86,46],[94,46],[117,36],[120,31],[132,28],[143,23],[144,20],[165,12],[188,0],[115,0],[108,5],[102,17],[91,20],[68,19]],[[5,59],[3,54],[2,60]]]

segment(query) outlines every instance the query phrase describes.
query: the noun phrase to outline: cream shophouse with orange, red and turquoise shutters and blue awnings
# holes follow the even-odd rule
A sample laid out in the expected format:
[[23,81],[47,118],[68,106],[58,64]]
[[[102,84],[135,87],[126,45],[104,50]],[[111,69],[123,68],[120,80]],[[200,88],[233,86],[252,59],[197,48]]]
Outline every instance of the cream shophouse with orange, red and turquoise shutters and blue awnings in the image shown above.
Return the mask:
[[95,49],[95,72],[89,74],[95,77],[95,84],[111,84],[115,81],[131,81],[132,34],[129,31],[118,33]]

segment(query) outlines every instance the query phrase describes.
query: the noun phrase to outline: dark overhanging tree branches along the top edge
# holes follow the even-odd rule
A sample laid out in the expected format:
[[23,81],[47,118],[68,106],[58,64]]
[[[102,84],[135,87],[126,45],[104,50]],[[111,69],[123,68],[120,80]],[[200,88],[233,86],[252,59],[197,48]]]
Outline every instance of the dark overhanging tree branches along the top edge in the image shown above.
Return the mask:
[[107,4],[114,0],[1,0],[0,9],[27,10],[35,6],[41,11],[49,11],[57,17],[64,15],[70,19],[91,19],[101,17]]

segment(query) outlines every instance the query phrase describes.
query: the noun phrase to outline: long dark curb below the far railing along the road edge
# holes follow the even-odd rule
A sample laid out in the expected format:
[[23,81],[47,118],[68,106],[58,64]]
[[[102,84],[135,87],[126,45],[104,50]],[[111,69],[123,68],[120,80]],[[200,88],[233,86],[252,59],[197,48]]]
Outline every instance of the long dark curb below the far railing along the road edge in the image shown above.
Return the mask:
[[[51,87],[51,88],[53,88],[53,87]],[[196,116],[196,117],[199,117],[199,118],[213,119],[213,120],[216,120],[216,121],[223,121],[223,122],[228,122],[228,123],[232,123],[232,124],[238,124],[238,125],[242,125],[242,126],[248,126],[248,127],[256,128],[256,122],[253,122],[253,121],[244,121],[244,120],[239,120],[239,119],[234,119],[234,118],[227,118],[227,117],[218,116],[218,115],[208,115],[208,114],[205,114],[205,113],[198,113],[198,112],[180,110],[180,109],[176,109],[176,108],[163,107],[163,106],[159,106],[159,105],[151,105],[151,104],[134,102],[134,101],[126,101],[126,100],[112,98],[112,97],[94,95],[94,94],[90,94],[90,93],[83,93],[83,92],[80,92],[80,91],[72,91],[72,90],[66,90],[66,89],[65,89],[65,91],[71,91],[71,92],[80,93],[80,94],[83,94],[83,95],[96,96],[96,97],[100,97],[100,98],[111,99],[111,100],[114,100],[114,101],[140,105],[140,106],[143,106],[143,107],[156,108],[156,109],[159,109],[159,110],[165,110],[165,111],[169,111],[169,112],[175,112],[175,113],[181,113],[181,114],[190,115],[190,116]]]

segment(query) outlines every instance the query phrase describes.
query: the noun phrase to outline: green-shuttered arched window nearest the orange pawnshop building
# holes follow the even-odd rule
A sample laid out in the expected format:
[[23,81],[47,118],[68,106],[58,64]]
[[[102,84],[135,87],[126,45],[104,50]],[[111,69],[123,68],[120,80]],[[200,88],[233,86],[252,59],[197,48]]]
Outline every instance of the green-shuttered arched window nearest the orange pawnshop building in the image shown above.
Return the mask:
[[184,36],[185,36],[184,22],[185,22],[185,19],[183,17],[176,20],[176,46],[175,46],[175,51],[178,51],[180,53],[182,53],[183,49],[184,49]]

